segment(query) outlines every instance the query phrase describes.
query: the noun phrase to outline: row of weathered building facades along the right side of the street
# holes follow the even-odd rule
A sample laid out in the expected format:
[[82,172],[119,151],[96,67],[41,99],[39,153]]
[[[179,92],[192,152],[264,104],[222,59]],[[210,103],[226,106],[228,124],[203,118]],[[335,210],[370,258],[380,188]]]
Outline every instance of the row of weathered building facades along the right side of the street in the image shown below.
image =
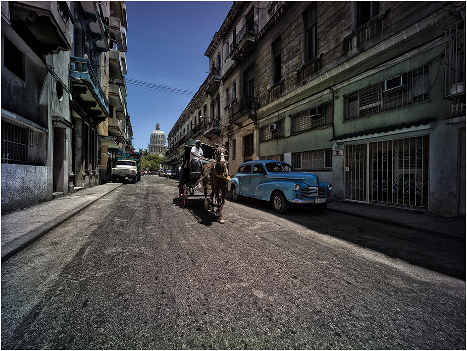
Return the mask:
[[465,3],[234,2],[205,55],[231,173],[280,159],[336,201],[465,215]]

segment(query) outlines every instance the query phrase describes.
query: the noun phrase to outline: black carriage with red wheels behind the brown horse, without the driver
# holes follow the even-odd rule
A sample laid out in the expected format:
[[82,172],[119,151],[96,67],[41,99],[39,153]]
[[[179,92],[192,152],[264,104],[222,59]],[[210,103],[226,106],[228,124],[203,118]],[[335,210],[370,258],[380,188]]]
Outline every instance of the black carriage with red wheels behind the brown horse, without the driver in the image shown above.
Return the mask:
[[[185,145],[185,152],[183,154],[183,167],[180,169],[180,180],[178,182],[178,198],[182,200],[182,205],[185,207],[186,199],[188,196],[204,196],[204,194],[195,194],[195,188],[202,178],[202,165],[199,163],[199,169],[196,172],[190,171],[190,152],[194,145]],[[204,158],[212,160],[214,157],[215,148],[211,145],[201,144],[201,149]],[[212,199],[213,194],[211,194]]]

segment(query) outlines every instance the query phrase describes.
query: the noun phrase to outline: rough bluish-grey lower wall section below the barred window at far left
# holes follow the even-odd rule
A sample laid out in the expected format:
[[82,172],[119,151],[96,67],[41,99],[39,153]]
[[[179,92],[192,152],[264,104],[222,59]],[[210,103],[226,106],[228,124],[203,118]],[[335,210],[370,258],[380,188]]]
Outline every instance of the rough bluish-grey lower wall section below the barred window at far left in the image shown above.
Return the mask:
[[2,164],[2,214],[51,200],[47,172],[44,166]]

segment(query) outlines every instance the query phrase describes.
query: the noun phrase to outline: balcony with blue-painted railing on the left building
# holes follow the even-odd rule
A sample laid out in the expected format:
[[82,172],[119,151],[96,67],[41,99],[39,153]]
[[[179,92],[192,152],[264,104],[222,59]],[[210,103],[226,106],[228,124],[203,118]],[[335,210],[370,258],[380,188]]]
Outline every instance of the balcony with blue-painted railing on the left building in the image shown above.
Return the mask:
[[81,57],[70,57],[70,77],[75,106],[95,119],[96,123],[105,121],[109,117],[109,100],[102,90],[89,60]]

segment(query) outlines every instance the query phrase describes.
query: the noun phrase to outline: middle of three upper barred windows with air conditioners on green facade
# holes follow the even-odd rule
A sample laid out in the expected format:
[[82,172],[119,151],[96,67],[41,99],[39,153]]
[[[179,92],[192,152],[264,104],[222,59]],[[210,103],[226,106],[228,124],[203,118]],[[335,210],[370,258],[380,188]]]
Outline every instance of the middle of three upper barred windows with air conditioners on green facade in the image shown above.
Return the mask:
[[330,126],[332,124],[332,102],[292,114],[291,123],[292,134]]

